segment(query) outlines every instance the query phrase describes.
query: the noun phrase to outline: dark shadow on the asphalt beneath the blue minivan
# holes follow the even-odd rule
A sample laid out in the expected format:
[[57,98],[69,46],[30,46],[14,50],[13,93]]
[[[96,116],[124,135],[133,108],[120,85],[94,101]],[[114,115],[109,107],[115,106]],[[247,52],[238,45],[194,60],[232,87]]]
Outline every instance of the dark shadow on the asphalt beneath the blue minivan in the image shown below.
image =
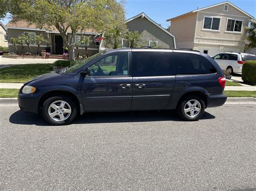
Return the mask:
[[[214,119],[215,116],[205,111],[200,120]],[[42,115],[29,114],[21,110],[16,111],[9,118],[10,123],[22,125],[49,126]],[[72,124],[92,123],[126,123],[126,122],[183,122],[174,110],[171,111],[127,111],[127,112],[87,112],[78,116]]]

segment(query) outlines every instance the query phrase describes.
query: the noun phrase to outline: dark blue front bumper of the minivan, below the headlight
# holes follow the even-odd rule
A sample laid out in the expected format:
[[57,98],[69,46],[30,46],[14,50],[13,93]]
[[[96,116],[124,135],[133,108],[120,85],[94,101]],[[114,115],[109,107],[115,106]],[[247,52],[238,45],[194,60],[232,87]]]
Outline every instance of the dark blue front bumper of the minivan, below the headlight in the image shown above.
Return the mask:
[[38,112],[38,98],[23,98],[18,97],[19,108],[25,112],[37,114]]

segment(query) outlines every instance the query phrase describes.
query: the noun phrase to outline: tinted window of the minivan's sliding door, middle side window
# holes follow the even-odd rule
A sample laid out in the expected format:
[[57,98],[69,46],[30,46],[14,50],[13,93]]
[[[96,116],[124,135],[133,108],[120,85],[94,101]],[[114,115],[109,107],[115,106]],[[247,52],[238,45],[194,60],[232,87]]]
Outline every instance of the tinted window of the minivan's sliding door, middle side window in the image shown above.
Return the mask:
[[174,75],[170,52],[132,52],[133,76]]

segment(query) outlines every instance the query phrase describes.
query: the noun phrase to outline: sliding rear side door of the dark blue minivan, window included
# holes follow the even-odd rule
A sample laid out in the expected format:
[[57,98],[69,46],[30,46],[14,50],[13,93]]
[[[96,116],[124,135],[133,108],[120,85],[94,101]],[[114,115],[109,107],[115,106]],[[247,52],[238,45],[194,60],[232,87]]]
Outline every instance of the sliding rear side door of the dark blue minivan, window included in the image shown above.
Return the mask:
[[164,109],[176,80],[172,52],[132,52],[132,110]]

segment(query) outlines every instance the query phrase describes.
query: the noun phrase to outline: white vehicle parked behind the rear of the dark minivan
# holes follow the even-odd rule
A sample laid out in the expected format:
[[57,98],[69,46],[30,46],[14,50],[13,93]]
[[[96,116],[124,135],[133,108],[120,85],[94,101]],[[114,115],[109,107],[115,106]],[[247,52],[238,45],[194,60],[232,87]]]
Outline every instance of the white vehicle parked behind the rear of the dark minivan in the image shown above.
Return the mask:
[[232,73],[242,73],[242,64],[246,60],[256,60],[254,54],[223,52],[213,56],[222,70],[230,70]]

